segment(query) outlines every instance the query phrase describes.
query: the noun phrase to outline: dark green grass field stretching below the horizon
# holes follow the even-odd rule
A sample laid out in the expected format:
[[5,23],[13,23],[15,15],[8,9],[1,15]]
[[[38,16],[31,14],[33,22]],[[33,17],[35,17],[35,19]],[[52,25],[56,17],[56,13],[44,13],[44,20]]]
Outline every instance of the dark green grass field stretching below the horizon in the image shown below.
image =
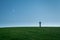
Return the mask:
[[60,40],[60,27],[0,28],[0,40]]

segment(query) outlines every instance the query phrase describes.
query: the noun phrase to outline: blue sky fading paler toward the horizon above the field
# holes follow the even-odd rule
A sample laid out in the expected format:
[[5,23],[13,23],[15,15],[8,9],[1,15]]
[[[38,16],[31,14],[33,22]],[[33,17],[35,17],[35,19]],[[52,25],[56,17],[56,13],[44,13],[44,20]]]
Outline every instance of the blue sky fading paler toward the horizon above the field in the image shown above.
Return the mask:
[[0,0],[0,26],[60,25],[60,0]]

